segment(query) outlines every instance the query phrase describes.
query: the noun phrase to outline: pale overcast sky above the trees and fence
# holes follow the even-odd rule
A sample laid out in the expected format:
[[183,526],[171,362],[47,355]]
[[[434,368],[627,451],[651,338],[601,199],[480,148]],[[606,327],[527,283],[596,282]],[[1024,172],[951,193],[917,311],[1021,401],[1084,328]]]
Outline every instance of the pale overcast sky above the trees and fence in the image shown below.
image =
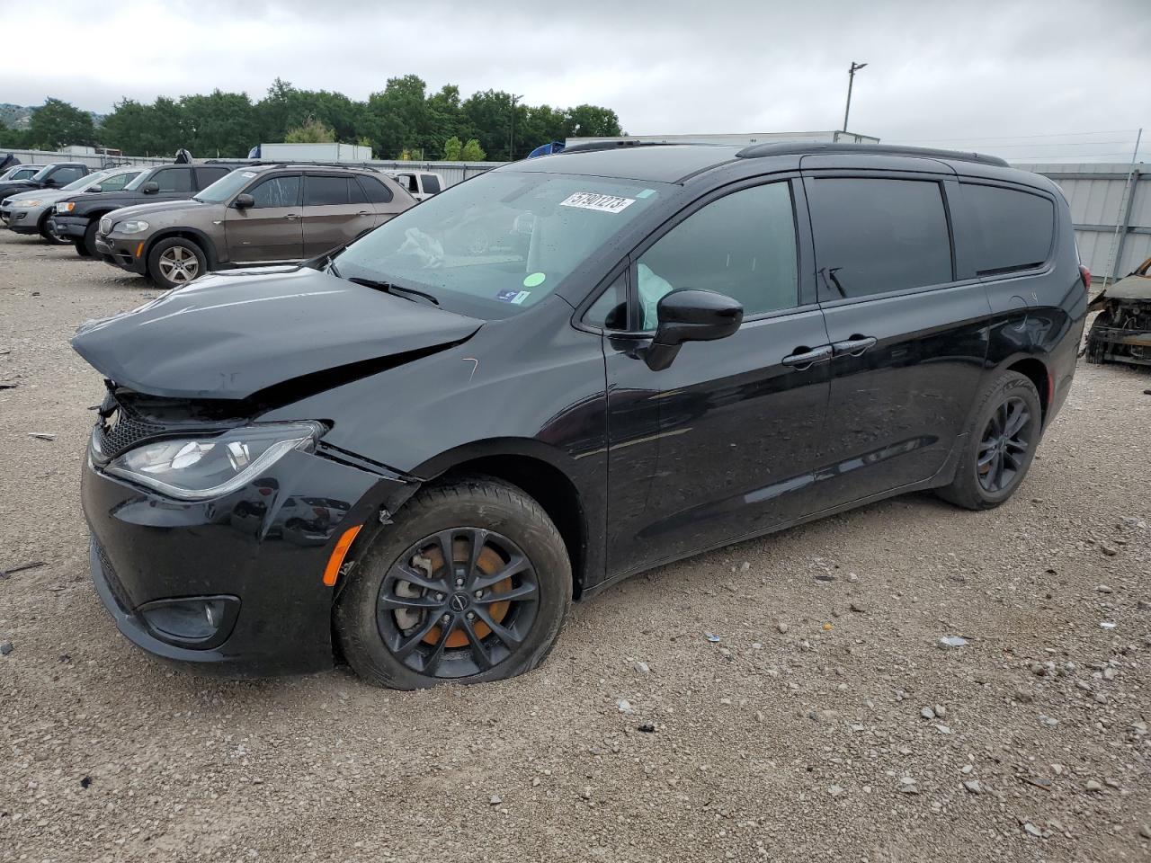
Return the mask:
[[276,76],[364,99],[414,72],[465,98],[603,105],[633,135],[826,130],[855,60],[868,68],[849,127],[884,140],[1121,161],[1151,127],[1151,0],[89,0],[32,14],[43,62],[7,62],[0,102],[259,99]]

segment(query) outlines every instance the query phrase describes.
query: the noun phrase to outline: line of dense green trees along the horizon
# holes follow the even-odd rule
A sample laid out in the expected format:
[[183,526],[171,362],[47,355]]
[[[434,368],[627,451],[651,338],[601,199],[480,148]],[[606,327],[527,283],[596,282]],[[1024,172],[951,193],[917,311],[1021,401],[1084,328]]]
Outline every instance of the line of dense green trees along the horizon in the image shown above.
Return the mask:
[[473,161],[521,159],[534,147],[570,136],[622,135],[616,112],[595,105],[524,105],[502,90],[462,99],[445,84],[429,92],[416,75],[388,78],[365,101],[328,90],[298,90],[275,79],[267,96],[215,90],[151,105],[122,99],[98,125],[91,114],[48,99],[26,129],[0,127],[0,147],[56,150],[69,144],[115,147],[125,155],[170,155],[186,147],[198,158],[245,156],[259,143],[338,140],[365,144],[379,159]]

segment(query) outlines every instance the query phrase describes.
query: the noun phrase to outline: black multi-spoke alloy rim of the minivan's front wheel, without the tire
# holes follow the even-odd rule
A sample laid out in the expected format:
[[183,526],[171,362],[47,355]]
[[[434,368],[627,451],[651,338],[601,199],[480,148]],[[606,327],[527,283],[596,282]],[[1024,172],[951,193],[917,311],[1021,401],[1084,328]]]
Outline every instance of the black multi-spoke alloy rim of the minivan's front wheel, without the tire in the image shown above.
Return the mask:
[[514,542],[457,527],[399,556],[380,586],[376,618],[391,655],[412,671],[472,677],[524,643],[539,597],[535,567]]

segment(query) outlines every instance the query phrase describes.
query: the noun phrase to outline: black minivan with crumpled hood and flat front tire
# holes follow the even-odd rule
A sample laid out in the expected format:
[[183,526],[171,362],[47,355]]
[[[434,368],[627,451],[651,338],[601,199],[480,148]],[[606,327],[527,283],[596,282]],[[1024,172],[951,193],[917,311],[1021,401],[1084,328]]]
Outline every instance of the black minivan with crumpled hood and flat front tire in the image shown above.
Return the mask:
[[79,329],[96,587],[204,670],[518,674],[641,570],[905,491],[1006,501],[1088,278],[1057,186],[989,156],[509,165]]

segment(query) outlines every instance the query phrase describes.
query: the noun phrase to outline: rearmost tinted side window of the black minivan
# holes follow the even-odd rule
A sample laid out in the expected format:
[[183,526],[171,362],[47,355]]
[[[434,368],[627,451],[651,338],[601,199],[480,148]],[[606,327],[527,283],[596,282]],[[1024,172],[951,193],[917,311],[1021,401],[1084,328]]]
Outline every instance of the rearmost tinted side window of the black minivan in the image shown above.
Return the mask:
[[978,274],[1036,267],[1047,260],[1055,230],[1055,208],[1038,194],[962,183],[980,235]]

